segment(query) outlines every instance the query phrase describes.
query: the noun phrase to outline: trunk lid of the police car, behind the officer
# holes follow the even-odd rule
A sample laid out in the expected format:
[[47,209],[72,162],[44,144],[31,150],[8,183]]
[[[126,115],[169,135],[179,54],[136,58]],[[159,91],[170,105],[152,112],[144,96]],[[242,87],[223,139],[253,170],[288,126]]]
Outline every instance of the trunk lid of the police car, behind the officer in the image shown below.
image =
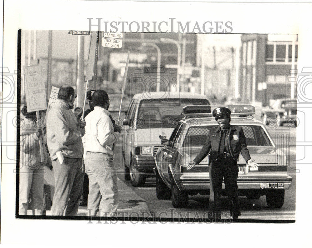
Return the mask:
[[[199,154],[201,146],[194,146],[190,152],[190,149],[184,148],[181,150],[181,154],[185,157],[185,162],[193,161],[193,159]],[[276,150],[275,147],[268,146],[250,146],[247,147],[251,159],[254,159],[257,164],[286,164],[285,155],[279,149]],[[238,158],[238,164],[246,164],[245,159],[241,154]],[[199,164],[208,164],[208,156],[204,158]]]

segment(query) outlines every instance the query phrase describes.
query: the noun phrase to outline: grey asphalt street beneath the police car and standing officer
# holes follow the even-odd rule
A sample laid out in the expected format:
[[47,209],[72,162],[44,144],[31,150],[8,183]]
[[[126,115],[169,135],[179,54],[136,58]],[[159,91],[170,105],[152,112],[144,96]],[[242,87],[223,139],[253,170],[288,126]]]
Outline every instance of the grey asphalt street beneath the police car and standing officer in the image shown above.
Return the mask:
[[[289,154],[289,175],[293,178],[291,187],[285,191],[285,203],[282,208],[270,209],[266,205],[266,197],[261,196],[256,200],[249,200],[246,196],[240,196],[241,216],[240,219],[253,220],[295,220],[295,189],[296,189],[296,173],[295,173],[295,159],[296,159],[296,129],[288,129],[286,127],[268,128],[268,131],[276,141],[276,134],[283,134],[288,139],[283,140],[287,145],[284,152]],[[277,141],[280,143],[280,141]],[[276,142],[276,143],[277,143]],[[159,200],[156,197],[156,183],[155,178],[148,178],[143,187],[133,187],[129,181],[124,180],[124,167],[120,164],[120,143],[115,146],[115,166],[119,166],[118,177],[126,183],[132,190],[141,196],[149,206],[152,215],[157,217],[168,218],[207,218],[209,196],[190,196],[188,206],[186,208],[174,208],[171,200]],[[227,197],[222,197],[222,210],[227,211]]]

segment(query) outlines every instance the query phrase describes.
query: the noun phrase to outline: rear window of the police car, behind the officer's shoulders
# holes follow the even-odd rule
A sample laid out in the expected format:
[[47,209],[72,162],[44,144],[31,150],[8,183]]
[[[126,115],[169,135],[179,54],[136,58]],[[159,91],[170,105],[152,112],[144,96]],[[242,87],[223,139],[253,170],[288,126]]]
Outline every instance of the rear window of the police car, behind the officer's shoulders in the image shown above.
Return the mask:
[[[235,125],[238,126],[238,125]],[[266,132],[261,126],[239,125],[244,131],[247,146],[273,146]],[[188,128],[183,141],[183,147],[203,146],[208,130],[213,126],[191,126]]]

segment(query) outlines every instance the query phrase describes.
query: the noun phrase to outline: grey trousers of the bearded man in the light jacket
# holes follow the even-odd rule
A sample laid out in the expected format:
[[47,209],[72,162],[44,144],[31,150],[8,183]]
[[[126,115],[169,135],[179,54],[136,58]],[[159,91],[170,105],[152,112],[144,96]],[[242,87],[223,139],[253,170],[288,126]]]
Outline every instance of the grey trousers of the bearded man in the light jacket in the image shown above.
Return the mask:
[[52,161],[55,179],[52,215],[77,215],[84,176],[81,159],[64,157],[62,164],[58,159]]

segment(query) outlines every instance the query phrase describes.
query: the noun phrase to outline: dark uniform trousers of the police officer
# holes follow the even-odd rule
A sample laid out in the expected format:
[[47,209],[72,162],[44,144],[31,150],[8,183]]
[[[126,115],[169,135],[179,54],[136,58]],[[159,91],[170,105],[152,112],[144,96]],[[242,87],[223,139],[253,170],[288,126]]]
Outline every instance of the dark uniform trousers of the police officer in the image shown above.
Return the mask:
[[209,166],[210,178],[210,196],[208,211],[216,215],[221,212],[221,191],[222,181],[224,178],[225,191],[227,193],[230,205],[230,213],[233,218],[241,215],[240,204],[237,192],[237,162],[232,158],[218,158],[217,161],[212,161]]

